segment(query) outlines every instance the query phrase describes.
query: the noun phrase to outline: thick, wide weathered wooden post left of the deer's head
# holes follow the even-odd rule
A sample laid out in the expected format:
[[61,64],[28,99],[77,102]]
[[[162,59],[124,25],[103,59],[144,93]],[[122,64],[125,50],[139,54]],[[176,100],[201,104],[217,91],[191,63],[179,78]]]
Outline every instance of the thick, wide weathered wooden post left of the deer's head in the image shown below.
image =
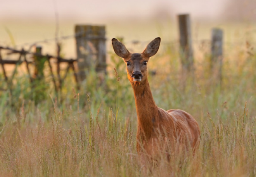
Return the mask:
[[75,33],[80,81],[86,77],[85,70],[92,66],[97,72],[106,73],[105,26],[76,25]]

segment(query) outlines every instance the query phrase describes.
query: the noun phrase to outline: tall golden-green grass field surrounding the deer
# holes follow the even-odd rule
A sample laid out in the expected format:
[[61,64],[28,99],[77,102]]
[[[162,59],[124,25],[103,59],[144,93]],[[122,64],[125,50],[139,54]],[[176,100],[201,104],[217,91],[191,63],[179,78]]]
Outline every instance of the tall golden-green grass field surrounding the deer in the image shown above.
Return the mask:
[[[255,31],[244,33],[239,43],[234,36],[225,43],[221,85],[209,69],[207,42],[194,44],[195,74],[187,79],[176,42],[163,43],[149,61],[149,70],[156,71],[149,83],[157,106],[183,109],[199,123],[201,143],[194,157],[162,159],[152,172],[142,172],[133,90],[125,63],[109,49],[103,81],[91,70],[76,90],[70,73],[57,96],[48,76],[31,90],[24,73],[16,76],[12,95],[0,92],[1,176],[255,176],[256,53],[250,38]],[[0,84],[6,87],[3,79]],[[41,101],[35,105],[38,92]]]

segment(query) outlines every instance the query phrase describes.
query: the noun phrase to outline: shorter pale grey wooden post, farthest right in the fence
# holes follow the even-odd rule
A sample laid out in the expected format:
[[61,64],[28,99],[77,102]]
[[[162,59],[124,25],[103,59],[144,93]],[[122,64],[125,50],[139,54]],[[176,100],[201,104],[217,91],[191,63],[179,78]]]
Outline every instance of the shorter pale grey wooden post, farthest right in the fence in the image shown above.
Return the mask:
[[223,31],[213,28],[211,31],[211,70],[216,70],[217,78],[221,82],[222,57],[223,57]]

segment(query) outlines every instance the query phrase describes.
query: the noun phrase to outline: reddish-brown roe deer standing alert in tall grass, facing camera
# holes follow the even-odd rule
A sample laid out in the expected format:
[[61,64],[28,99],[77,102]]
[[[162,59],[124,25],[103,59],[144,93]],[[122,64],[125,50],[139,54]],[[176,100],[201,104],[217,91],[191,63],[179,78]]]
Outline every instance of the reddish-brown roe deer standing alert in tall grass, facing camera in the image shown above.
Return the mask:
[[[147,79],[147,62],[157,53],[160,37],[151,41],[142,53],[130,53],[124,44],[112,39],[115,53],[126,62],[128,79],[134,92],[137,111],[137,152],[141,160],[165,152],[164,145],[178,149],[198,148],[200,129],[195,119],[179,109],[164,111],[156,106]],[[145,155],[146,153],[146,155]],[[147,156],[147,157],[146,157]],[[167,155],[170,160],[170,155]]]

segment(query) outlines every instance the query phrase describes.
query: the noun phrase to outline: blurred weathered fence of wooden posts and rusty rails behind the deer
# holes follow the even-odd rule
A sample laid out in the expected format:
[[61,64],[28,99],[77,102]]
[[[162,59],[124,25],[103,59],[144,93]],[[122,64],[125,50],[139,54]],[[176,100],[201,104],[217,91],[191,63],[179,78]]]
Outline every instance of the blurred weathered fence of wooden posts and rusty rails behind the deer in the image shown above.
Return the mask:
[[[183,66],[183,69],[190,72],[193,71],[194,65],[194,57],[193,57],[193,49],[192,49],[192,37],[191,37],[191,27],[190,27],[190,17],[189,14],[178,15],[178,23],[179,23],[179,32],[180,32],[180,59]],[[17,50],[14,48],[0,46],[0,64],[3,71],[3,76],[5,82],[10,90],[12,90],[12,81],[14,75],[17,72],[17,66],[21,63],[26,64],[26,70],[29,76],[29,80],[31,83],[35,82],[35,80],[43,77],[43,65],[45,62],[48,63],[50,68],[50,75],[52,78],[52,82],[54,84],[54,88],[56,92],[61,91],[62,83],[67,77],[67,73],[69,70],[72,70],[74,80],[76,81],[77,88],[79,89],[79,84],[82,80],[86,78],[84,70],[92,66],[94,63],[96,71],[103,71],[106,73],[106,38],[105,38],[105,27],[104,26],[83,26],[77,25],[75,27],[75,35],[64,36],[62,39],[68,39],[71,37],[75,37],[76,39],[76,59],[67,59],[62,58],[60,56],[61,46],[57,43],[57,56],[52,55],[43,55],[41,53],[42,48],[39,46],[36,48],[35,52],[25,51],[24,49]],[[50,39],[50,40],[55,40]],[[45,42],[37,41],[38,42]],[[221,65],[222,65],[222,46],[223,46],[223,31],[221,29],[213,29],[212,31],[212,39],[211,39],[211,66],[218,65],[218,75],[221,80]],[[1,56],[1,51],[6,50],[9,51],[9,54],[19,54],[17,60],[8,60],[3,59]],[[26,56],[28,54],[33,55],[33,61],[28,61]],[[22,59],[23,58],[23,59]],[[57,77],[54,75],[51,60],[57,60]],[[35,65],[34,74],[31,73],[30,65],[33,63]],[[61,77],[60,74],[60,64],[67,63],[67,67],[65,69],[64,77]],[[7,77],[5,71],[5,65],[15,65],[15,69],[12,72],[10,78]],[[76,70],[75,68],[78,68]],[[213,69],[214,67],[212,67]]]

